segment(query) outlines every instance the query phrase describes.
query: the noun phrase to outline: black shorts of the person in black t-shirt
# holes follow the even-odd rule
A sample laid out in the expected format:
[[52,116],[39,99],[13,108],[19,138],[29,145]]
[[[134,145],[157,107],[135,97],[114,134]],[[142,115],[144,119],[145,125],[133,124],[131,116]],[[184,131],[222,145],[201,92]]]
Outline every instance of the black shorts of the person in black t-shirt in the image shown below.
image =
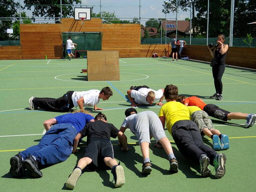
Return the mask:
[[89,164],[86,169],[88,171],[95,171],[97,169],[109,170],[105,162],[105,157],[111,157],[114,159],[114,151],[110,140],[104,138],[92,138],[88,144],[84,157],[92,159],[92,163]]

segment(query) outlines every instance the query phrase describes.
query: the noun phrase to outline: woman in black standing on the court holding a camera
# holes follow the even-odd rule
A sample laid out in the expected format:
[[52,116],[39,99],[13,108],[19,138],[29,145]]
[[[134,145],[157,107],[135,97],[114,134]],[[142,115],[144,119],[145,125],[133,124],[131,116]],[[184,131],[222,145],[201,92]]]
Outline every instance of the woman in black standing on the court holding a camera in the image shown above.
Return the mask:
[[208,46],[208,50],[210,51],[213,58],[217,59],[217,64],[212,66],[212,76],[214,79],[214,86],[216,93],[214,93],[211,98],[216,98],[216,100],[222,100],[222,82],[221,78],[225,71],[225,58],[228,51],[228,45],[225,42],[225,35],[218,35],[217,45],[214,47],[213,51]]

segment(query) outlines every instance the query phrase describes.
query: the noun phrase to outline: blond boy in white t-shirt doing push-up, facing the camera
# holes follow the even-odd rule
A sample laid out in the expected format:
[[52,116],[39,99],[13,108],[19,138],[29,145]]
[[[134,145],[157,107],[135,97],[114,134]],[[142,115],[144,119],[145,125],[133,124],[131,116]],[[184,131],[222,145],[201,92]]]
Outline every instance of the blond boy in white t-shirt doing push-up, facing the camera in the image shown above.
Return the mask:
[[127,91],[127,95],[131,101],[131,107],[137,107],[138,105],[152,105],[156,100],[159,100],[156,105],[162,106],[164,89],[155,91],[146,85],[131,86],[130,90]]

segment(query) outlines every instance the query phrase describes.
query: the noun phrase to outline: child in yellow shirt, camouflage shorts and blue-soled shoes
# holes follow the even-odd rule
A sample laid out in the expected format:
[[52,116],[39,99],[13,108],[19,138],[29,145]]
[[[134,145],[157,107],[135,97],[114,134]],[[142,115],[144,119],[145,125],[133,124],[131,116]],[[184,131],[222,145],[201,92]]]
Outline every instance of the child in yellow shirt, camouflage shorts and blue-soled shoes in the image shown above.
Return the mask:
[[197,106],[188,106],[188,111],[190,119],[196,123],[201,135],[205,134],[212,139],[212,148],[215,151],[229,148],[228,135],[223,135],[214,128],[212,120],[205,111]]

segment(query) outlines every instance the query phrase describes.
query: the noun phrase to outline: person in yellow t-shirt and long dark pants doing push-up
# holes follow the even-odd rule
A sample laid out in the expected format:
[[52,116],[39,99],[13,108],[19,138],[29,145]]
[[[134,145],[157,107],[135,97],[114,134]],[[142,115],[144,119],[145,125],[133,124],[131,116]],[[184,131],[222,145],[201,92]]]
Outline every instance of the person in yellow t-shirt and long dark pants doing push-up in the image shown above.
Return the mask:
[[195,162],[200,162],[201,175],[209,177],[211,170],[208,165],[215,167],[215,177],[221,178],[226,172],[225,164],[227,157],[225,154],[218,154],[208,145],[205,145],[197,125],[190,120],[189,111],[186,106],[176,102],[178,98],[178,87],[166,85],[164,97],[167,101],[160,109],[159,118],[163,128],[166,127],[171,133],[180,153]]

